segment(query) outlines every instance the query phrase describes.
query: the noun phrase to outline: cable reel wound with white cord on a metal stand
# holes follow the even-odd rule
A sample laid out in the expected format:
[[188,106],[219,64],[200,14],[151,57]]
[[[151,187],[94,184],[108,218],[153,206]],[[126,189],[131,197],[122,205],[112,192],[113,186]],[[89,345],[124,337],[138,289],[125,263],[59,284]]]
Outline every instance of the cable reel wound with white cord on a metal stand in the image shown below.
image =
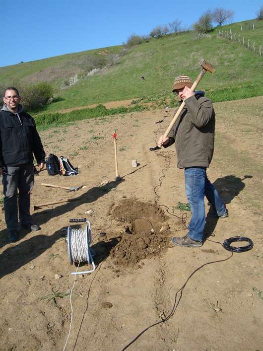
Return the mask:
[[81,219],[69,219],[70,223],[81,223],[85,222],[88,225],[85,226],[85,230],[67,227],[67,253],[69,263],[72,265],[73,262],[87,262],[92,265],[92,270],[84,272],[72,272],[71,275],[87,274],[95,271],[96,267],[93,261],[95,252],[90,248],[91,244],[91,224],[87,218]]

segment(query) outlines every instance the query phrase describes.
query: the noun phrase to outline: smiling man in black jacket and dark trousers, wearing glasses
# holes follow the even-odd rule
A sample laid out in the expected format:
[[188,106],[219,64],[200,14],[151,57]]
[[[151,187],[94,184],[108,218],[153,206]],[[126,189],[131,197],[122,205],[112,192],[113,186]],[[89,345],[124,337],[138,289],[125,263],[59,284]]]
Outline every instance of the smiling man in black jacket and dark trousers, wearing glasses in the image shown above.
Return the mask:
[[4,104],[0,111],[0,175],[10,241],[18,239],[18,211],[20,228],[40,229],[38,225],[32,225],[30,216],[30,193],[34,185],[33,153],[40,169],[45,165],[45,151],[35,121],[23,111],[20,101],[18,90],[8,87],[4,91]]

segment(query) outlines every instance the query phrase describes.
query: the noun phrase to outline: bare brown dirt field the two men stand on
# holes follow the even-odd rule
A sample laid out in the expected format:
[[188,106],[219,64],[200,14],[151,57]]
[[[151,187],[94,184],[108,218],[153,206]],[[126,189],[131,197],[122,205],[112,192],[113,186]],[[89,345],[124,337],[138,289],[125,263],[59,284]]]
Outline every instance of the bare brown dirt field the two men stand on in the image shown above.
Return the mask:
[[[68,262],[62,229],[70,218],[87,217],[97,268],[76,277],[66,350],[124,350],[160,322],[128,350],[263,351],[263,97],[214,106],[216,144],[208,176],[229,217],[207,217],[209,240],[200,248],[171,243],[174,235],[187,233],[184,223],[190,217],[175,208],[187,199],[174,146],[149,151],[169,125],[172,110],[88,120],[41,133],[46,152],[68,157],[80,174],[41,172],[32,205],[76,200],[32,210],[41,231],[21,231],[20,240],[11,244],[0,213],[0,350],[64,349],[76,267]],[[120,182],[115,182],[115,129]],[[132,159],[138,167],[132,167]],[[86,187],[68,194],[41,183]],[[250,237],[254,248],[231,257],[220,243],[235,235]],[[213,261],[223,262],[209,264]]]

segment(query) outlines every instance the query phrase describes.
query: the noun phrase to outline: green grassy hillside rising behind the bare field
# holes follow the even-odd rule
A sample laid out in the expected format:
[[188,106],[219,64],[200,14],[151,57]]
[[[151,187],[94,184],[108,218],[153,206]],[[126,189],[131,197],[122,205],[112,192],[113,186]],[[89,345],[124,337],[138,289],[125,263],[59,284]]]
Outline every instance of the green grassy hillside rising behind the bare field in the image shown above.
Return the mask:
[[[255,30],[250,29],[252,22]],[[213,75],[207,72],[198,88],[206,90],[213,101],[262,95],[263,56],[220,37],[218,29],[201,39],[194,32],[151,39],[129,49],[125,55],[123,47],[116,46],[0,68],[0,84],[8,84],[10,78],[51,82],[57,99],[47,105],[48,112],[125,99],[170,103],[174,77],[185,73],[195,79],[203,58],[216,71]],[[229,25],[220,29],[228,30]],[[245,35],[251,42],[256,41],[258,46],[263,42],[262,21],[234,23],[231,30]],[[119,62],[107,65],[114,55],[119,55]],[[83,77],[90,62],[102,69],[65,87],[70,77]],[[140,81],[140,75],[144,75],[145,81]]]

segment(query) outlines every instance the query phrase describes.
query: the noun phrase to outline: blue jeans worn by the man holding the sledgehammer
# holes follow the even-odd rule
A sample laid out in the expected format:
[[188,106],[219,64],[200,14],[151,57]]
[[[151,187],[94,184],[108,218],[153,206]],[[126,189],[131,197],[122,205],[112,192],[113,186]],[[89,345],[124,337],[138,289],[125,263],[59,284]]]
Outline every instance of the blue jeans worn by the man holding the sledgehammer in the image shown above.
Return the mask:
[[226,207],[207,178],[206,167],[185,168],[185,185],[192,212],[187,235],[193,240],[202,241],[205,225],[204,195],[218,216],[225,214]]

